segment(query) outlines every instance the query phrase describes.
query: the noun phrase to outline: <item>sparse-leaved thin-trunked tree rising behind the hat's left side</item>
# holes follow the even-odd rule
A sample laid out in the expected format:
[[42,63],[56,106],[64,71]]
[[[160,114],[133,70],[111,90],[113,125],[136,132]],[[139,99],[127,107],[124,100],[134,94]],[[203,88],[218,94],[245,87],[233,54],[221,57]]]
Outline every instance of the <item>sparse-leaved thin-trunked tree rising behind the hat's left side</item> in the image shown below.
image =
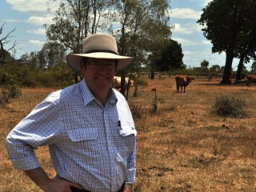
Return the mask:
[[[88,34],[106,30],[112,3],[106,0],[62,0],[54,13],[54,23],[45,24],[48,40],[61,43],[69,52],[82,53],[83,39]],[[77,72],[74,77],[78,82]]]

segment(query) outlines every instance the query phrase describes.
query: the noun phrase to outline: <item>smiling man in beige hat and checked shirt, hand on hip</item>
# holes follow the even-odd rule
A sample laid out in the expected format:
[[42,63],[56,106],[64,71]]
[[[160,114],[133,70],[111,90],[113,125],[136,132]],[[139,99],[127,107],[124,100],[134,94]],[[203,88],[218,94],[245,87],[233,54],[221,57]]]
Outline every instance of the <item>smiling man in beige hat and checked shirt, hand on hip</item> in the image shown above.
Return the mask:
[[[116,71],[133,58],[117,52],[114,37],[88,36],[83,54],[66,58],[84,79],[50,94],[7,136],[14,168],[24,170],[43,191],[133,190],[136,130],[126,99],[111,88]],[[44,145],[49,146],[54,178],[34,155]]]

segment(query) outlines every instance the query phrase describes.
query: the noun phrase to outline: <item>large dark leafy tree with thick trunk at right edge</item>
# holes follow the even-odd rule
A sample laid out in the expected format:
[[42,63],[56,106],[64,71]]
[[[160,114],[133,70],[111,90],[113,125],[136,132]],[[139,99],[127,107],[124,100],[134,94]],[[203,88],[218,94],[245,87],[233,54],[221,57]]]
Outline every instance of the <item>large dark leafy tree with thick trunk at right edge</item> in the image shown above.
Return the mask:
[[230,84],[233,58],[242,58],[244,62],[255,58],[255,9],[254,0],[214,0],[202,9],[198,23],[203,26],[203,35],[213,44],[212,53],[226,52],[221,84]]

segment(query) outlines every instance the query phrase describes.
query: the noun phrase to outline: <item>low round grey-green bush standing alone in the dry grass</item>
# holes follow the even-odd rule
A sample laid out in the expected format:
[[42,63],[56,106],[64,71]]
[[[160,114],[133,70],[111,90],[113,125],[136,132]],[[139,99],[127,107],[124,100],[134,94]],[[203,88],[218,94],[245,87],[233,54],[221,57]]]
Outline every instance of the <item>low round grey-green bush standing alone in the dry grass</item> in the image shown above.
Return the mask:
[[246,117],[246,111],[243,110],[246,102],[242,98],[233,98],[221,96],[216,98],[214,103],[214,113],[221,117]]

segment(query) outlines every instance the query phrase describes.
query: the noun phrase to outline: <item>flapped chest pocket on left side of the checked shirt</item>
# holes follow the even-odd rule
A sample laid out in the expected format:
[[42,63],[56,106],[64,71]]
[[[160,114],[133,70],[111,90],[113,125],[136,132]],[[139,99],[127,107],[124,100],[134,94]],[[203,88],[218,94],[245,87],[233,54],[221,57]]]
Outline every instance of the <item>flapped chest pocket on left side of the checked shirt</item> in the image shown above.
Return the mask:
[[98,138],[98,129],[94,126],[74,128],[68,130],[67,134],[72,142],[95,140]]

